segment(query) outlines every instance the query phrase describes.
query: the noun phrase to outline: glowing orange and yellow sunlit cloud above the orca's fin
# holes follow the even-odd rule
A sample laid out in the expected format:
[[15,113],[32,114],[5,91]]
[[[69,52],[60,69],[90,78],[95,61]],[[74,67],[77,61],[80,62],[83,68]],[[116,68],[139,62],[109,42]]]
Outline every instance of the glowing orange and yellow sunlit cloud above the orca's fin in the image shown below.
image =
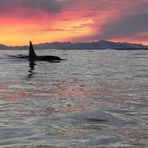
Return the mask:
[[[47,14],[43,11],[36,11],[39,18],[36,16],[27,18],[22,11],[17,13],[1,17],[0,42],[3,44],[23,45],[28,40],[32,40],[34,43],[68,41],[72,37],[81,37],[92,33],[92,29],[87,25],[92,23],[91,19],[79,18],[75,20],[66,14]],[[65,17],[69,19],[66,20]]]

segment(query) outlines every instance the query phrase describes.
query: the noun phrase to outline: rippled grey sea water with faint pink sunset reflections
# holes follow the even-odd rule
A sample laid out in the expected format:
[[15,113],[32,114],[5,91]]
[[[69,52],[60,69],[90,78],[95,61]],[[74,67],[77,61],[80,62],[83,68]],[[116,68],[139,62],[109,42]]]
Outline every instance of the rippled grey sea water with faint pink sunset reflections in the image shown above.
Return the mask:
[[25,52],[0,51],[0,148],[148,147],[148,51]]

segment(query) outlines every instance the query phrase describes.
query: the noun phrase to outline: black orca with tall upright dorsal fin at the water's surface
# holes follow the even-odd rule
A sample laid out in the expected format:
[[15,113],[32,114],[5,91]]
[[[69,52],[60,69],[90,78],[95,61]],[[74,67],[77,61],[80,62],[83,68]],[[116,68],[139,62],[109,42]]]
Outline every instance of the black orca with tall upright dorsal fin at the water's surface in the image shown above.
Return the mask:
[[30,63],[34,63],[34,61],[48,61],[48,62],[59,62],[62,59],[58,56],[37,56],[35,54],[32,42],[30,41],[30,47],[29,47],[29,55],[28,55],[28,61]]

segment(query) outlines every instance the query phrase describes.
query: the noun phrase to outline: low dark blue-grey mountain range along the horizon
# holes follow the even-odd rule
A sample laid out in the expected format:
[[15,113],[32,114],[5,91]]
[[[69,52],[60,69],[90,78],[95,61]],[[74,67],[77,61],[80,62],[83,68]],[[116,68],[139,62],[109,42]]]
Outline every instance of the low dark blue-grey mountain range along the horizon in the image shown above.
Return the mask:
[[[132,44],[127,42],[111,42],[100,40],[97,42],[52,42],[34,45],[35,49],[63,49],[63,50],[85,50],[85,49],[116,49],[116,50],[148,50],[148,46],[143,44]],[[28,46],[6,46],[0,44],[0,49],[28,49]]]

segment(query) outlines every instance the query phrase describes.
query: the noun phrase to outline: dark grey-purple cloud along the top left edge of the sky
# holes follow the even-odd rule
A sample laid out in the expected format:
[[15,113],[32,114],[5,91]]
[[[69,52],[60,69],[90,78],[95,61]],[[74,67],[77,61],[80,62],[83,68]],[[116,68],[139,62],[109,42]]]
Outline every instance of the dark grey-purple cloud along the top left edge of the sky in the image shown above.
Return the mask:
[[44,10],[56,13],[66,7],[69,0],[0,0],[0,12],[9,12],[17,7]]

